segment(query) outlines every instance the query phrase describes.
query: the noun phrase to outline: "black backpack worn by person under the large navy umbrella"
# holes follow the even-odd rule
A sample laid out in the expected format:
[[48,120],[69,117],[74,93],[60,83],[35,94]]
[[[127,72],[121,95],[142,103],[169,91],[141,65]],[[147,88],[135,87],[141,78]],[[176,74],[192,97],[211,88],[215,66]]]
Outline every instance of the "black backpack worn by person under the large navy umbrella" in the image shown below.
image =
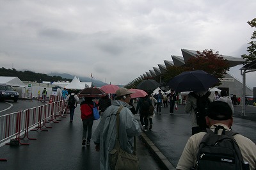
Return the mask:
[[193,97],[196,98],[196,108],[193,108],[196,114],[196,121],[197,121],[197,125],[202,129],[205,130],[206,128],[209,128],[206,125],[206,121],[205,121],[205,116],[206,116],[206,112],[207,112],[207,107],[208,105],[211,103],[211,101],[209,100],[209,95],[211,95],[210,91],[207,91],[207,93],[205,93],[204,96],[199,97],[198,95],[196,95],[195,93],[190,93],[190,95],[192,95]]

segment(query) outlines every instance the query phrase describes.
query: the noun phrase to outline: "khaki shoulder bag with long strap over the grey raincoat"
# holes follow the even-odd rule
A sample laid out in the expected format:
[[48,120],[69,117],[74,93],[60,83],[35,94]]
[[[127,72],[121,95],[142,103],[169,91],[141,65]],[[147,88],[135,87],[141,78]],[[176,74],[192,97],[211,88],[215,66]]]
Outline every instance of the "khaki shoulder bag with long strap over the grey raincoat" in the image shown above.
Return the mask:
[[109,153],[109,166],[111,169],[139,169],[139,158],[136,156],[136,137],[134,136],[134,147],[133,153],[127,153],[126,151],[120,148],[119,141],[119,114],[124,106],[120,106],[116,112],[116,143],[113,150]]

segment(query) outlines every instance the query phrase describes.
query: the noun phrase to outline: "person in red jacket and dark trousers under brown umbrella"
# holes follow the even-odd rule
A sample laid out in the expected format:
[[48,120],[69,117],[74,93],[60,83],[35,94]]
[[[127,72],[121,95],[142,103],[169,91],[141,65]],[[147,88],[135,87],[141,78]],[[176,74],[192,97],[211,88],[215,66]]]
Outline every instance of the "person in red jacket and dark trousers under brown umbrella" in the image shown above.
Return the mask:
[[[83,143],[82,145],[90,146],[90,140],[92,138],[92,125],[93,125],[93,110],[94,105],[97,104],[92,101],[91,97],[84,97],[84,101],[80,104],[81,119],[83,121]],[[88,130],[88,134],[87,134]],[[87,135],[87,141],[86,141]]]

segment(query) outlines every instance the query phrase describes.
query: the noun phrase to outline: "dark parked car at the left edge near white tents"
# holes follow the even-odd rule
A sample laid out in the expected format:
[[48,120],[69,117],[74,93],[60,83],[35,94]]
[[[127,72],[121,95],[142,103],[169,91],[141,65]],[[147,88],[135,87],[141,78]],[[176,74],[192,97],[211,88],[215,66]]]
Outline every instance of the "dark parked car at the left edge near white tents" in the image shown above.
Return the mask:
[[19,93],[14,91],[10,86],[0,84],[0,101],[3,100],[13,100],[17,102],[19,98]]

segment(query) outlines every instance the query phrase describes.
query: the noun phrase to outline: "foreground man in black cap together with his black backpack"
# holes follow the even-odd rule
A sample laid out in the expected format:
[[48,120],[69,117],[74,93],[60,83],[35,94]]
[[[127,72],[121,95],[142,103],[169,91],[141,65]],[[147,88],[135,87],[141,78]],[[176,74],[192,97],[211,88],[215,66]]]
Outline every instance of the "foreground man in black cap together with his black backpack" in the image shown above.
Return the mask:
[[188,139],[176,169],[256,169],[256,145],[232,132],[232,110],[226,102],[208,105],[209,129]]

